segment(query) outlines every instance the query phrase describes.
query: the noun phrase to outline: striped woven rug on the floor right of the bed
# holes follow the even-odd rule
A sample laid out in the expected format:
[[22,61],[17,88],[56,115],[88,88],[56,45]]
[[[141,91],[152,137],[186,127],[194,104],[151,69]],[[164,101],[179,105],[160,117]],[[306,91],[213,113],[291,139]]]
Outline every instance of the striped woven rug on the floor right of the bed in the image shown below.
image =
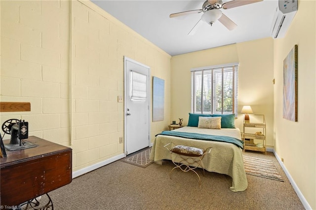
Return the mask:
[[246,174],[284,181],[271,160],[243,156]]

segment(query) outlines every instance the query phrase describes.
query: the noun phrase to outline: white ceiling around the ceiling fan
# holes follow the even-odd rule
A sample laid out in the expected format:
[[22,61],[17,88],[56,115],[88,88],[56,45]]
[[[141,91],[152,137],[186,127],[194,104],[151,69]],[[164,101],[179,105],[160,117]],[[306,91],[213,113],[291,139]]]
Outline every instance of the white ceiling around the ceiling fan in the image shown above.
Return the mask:
[[[188,35],[202,13],[169,18],[171,13],[201,9],[205,0],[91,0],[119,21],[142,35],[169,55],[270,36],[277,0],[263,0],[230,9],[221,9],[237,24],[229,31],[216,21],[203,22],[195,35]],[[227,2],[229,0],[223,0]]]

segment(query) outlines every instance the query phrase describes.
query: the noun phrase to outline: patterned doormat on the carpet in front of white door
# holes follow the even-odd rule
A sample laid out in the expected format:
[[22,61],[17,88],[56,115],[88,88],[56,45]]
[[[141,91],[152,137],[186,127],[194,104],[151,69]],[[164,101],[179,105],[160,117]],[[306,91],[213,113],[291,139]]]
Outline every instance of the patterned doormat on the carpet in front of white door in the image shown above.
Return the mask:
[[149,160],[149,155],[152,148],[145,149],[139,153],[133,154],[131,156],[127,156],[124,159],[121,159],[120,161],[123,161],[125,163],[129,163],[135,166],[146,168],[153,162]]

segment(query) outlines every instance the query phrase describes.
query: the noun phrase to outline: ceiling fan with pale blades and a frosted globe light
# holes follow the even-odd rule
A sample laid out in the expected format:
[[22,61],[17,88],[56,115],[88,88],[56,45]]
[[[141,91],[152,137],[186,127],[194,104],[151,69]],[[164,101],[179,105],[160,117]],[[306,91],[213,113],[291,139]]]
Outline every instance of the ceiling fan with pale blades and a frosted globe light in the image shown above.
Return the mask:
[[220,9],[221,8],[230,9],[230,8],[234,8],[237,6],[243,6],[246,4],[255,3],[258,1],[263,1],[263,0],[231,0],[231,1],[228,1],[225,3],[223,3],[222,0],[206,0],[202,5],[202,9],[173,13],[173,14],[170,14],[169,17],[173,18],[173,17],[179,17],[179,16],[183,16],[183,15],[189,15],[189,14],[203,12],[201,18],[199,19],[197,24],[193,27],[193,29],[189,32],[188,35],[194,35],[195,32],[197,31],[199,25],[202,23],[202,21],[204,21],[207,24],[212,26],[218,20],[228,30],[232,31],[237,27],[236,23],[234,23],[225,14],[223,14],[223,12]]

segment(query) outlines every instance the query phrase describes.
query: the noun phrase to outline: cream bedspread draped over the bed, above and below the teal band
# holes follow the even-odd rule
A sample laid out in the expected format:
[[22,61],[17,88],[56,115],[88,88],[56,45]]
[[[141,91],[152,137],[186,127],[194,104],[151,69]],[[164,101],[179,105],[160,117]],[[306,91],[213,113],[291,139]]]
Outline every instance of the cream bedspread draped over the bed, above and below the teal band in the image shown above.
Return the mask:
[[[182,127],[176,129],[177,132],[200,133],[207,135],[229,136],[241,140],[239,129],[204,129],[197,127]],[[202,165],[209,172],[229,175],[233,178],[230,190],[234,192],[244,191],[247,186],[247,178],[243,166],[242,150],[232,143],[209,141],[209,140],[193,140],[173,136],[158,135],[154,141],[154,145],[150,154],[150,160],[158,164],[161,160],[171,160],[169,151],[163,147],[169,142],[176,145],[194,146],[201,149],[212,147],[211,153],[205,155]]]

